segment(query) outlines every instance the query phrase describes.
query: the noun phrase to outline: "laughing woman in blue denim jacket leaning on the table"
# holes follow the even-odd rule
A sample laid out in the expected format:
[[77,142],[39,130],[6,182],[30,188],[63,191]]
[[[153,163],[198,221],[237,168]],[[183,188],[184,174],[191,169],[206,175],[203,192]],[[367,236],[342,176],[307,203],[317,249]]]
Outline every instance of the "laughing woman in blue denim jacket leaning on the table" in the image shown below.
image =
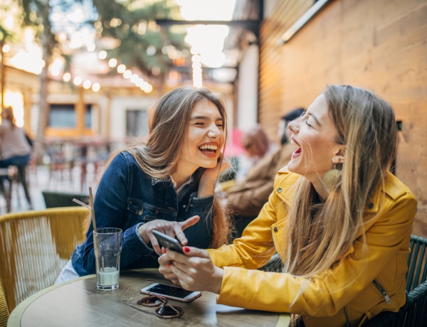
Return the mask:
[[[179,87],[149,109],[147,142],[113,154],[95,195],[97,228],[123,230],[120,268],[157,267],[159,230],[182,244],[219,247],[228,223],[216,202],[226,109],[206,89]],[[93,225],[58,282],[95,273]]]

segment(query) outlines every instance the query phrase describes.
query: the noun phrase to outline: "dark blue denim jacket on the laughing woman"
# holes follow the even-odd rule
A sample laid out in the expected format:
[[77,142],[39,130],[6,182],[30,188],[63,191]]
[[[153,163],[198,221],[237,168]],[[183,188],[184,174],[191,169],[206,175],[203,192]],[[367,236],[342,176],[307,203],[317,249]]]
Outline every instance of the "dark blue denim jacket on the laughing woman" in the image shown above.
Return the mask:
[[[212,235],[214,195],[196,198],[199,186],[186,184],[177,195],[171,178],[153,178],[139,168],[131,154],[120,152],[107,167],[95,196],[97,228],[122,229],[120,269],[158,267],[157,254],[145,244],[138,227],[155,219],[183,221],[194,215],[200,220],[184,230],[189,245],[206,249]],[[95,274],[93,225],[86,241],[78,245],[71,261],[80,276]]]

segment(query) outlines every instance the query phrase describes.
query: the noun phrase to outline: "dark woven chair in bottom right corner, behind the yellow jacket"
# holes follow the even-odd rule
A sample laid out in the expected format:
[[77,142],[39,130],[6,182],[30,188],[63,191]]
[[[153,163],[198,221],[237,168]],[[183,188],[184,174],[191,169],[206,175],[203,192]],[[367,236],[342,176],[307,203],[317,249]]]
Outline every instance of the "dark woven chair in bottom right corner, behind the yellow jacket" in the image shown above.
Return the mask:
[[427,239],[411,235],[411,253],[406,275],[406,304],[399,312],[381,312],[364,324],[367,327],[427,326]]

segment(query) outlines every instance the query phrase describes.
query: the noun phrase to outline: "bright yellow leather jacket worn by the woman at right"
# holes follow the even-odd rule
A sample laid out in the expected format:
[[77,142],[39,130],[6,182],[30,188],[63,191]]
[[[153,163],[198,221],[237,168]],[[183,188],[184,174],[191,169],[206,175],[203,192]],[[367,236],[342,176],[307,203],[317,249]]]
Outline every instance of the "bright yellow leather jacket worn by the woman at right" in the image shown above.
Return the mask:
[[286,168],[279,171],[268,203],[242,237],[209,250],[214,264],[224,270],[218,303],[297,313],[307,327],[360,326],[381,311],[398,311],[406,301],[406,261],[417,201],[391,173],[364,210],[367,218],[374,217],[364,225],[366,245],[354,241],[344,259],[313,277],[300,296],[306,281],[302,277],[256,270],[276,250],[283,253],[281,231],[295,193],[290,186],[297,178]]

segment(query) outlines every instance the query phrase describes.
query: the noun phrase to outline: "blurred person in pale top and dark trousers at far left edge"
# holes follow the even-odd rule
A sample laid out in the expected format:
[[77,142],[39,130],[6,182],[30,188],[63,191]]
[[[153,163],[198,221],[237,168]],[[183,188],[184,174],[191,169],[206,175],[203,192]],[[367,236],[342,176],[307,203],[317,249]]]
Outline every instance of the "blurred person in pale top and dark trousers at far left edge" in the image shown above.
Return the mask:
[[5,107],[1,111],[0,168],[16,166],[29,208],[32,208],[31,196],[26,183],[26,166],[30,159],[31,144],[23,129],[16,126],[14,109]]

